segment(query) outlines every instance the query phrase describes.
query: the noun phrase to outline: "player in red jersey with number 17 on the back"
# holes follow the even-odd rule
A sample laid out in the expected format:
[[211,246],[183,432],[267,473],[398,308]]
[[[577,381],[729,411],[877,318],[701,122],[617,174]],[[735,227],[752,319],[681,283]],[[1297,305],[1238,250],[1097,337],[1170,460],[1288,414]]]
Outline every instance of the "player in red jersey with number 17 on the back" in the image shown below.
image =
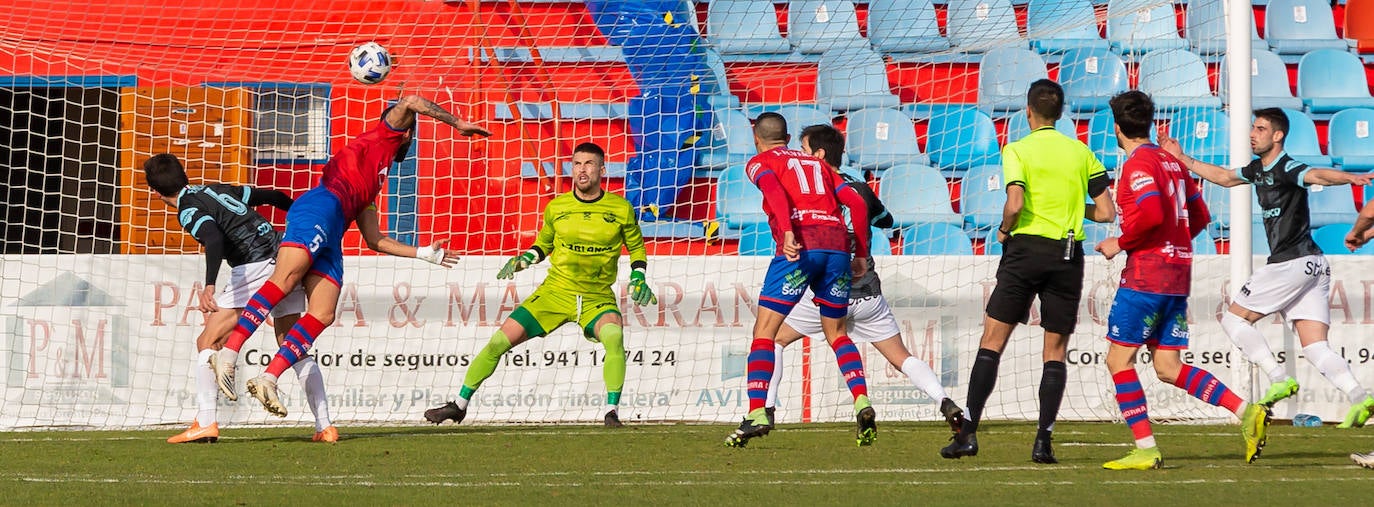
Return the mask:
[[[855,397],[859,445],[868,445],[878,436],[875,414],[868,403],[863,359],[844,334],[849,282],[868,269],[868,207],[837,172],[827,170],[816,157],[789,150],[787,142],[787,121],[780,114],[758,115],[754,122],[758,155],[749,159],[746,173],[764,194],[764,212],[778,254],[764,275],[758,320],[749,346],[749,415],[725,438],[725,445],[745,447],[749,438],[772,430],[764,404],[774,372],[774,339],[807,289],[815,294],[826,341],[835,350],[840,371]],[[855,231],[853,258],[841,205],[849,207]]]

